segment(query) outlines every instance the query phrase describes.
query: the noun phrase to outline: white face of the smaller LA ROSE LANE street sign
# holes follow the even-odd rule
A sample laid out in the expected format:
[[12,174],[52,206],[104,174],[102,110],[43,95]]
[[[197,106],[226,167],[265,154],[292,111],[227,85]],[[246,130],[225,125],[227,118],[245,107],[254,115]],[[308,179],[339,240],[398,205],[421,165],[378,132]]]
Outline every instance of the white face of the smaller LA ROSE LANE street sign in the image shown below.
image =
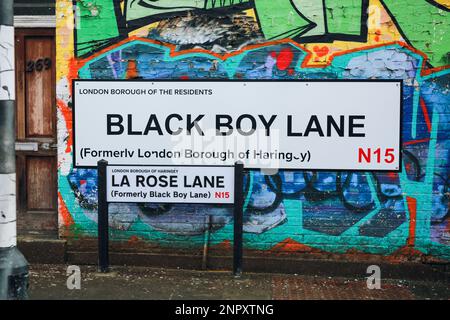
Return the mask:
[[[234,167],[182,167],[182,166],[107,166],[106,167],[106,201],[108,202],[150,202],[150,203],[203,203],[203,204],[233,204],[234,203]],[[114,185],[113,185],[114,176]],[[129,186],[122,184],[127,177]],[[137,176],[143,176],[147,182],[136,183]],[[170,182],[174,177],[176,187],[162,186],[161,176]],[[210,181],[221,177],[223,188],[205,186],[204,178]],[[194,186],[195,179],[197,186]],[[199,186],[198,183],[202,183]],[[157,183],[156,185],[154,185]],[[217,180],[215,180],[217,183]],[[142,184],[144,186],[142,186]]]

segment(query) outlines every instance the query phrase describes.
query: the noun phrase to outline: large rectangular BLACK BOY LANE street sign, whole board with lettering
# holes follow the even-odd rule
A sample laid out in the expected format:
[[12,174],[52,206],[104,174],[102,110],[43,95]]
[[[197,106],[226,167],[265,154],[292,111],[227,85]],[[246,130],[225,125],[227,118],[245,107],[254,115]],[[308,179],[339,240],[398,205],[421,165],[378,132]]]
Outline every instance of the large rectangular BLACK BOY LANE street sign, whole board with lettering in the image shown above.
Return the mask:
[[74,166],[400,170],[401,81],[75,80]]

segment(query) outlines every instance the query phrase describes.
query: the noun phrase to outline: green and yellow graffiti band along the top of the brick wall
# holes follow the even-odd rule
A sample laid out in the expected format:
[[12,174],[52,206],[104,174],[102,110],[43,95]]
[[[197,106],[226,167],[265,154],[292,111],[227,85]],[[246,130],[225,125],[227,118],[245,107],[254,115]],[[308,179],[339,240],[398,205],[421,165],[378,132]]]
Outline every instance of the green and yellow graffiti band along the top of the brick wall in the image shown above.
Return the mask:
[[[78,0],[75,51],[77,56],[93,54],[152,23],[158,26],[151,38],[182,48],[220,50],[285,38],[299,43],[366,42],[369,13],[372,20],[384,13],[402,38],[427,53],[433,65],[448,63],[448,2],[372,2],[376,4],[369,0]],[[92,32],[96,28],[101,34]],[[381,30],[376,33],[381,35]]]

